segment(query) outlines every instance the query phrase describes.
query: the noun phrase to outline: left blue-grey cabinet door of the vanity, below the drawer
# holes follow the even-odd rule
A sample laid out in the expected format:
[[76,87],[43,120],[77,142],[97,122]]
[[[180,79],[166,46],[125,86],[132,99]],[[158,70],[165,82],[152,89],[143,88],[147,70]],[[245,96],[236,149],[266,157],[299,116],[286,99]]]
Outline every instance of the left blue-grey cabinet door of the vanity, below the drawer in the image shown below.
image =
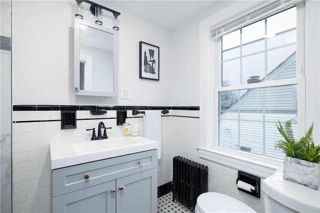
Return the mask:
[[115,181],[52,199],[52,213],[115,213]]

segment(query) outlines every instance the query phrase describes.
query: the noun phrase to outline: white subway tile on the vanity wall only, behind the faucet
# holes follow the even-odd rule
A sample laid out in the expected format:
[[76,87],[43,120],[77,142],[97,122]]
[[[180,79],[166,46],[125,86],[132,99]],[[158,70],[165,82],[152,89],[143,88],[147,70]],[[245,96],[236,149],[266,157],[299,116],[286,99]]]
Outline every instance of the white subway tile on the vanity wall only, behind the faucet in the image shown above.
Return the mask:
[[[131,111],[129,113],[132,115]],[[139,135],[143,136],[141,115],[137,119]],[[102,121],[108,137],[121,136],[122,126],[116,125],[116,111],[104,115],[91,115],[89,111],[77,111],[77,119],[99,118],[99,120],[78,120],[76,129],[61,130],[60,111],[13,111],[12,112],[12,211],[45,213],[50,212],[50,162],[49,144],[68,138],[90,139],[91,131]],[[15,123],[18,121],[33,121]],[[45,122],[41,122],[45,121]],[[171,134],[170,117],[162,117],[162,156],[158,160],[158,185],[171,181]]]

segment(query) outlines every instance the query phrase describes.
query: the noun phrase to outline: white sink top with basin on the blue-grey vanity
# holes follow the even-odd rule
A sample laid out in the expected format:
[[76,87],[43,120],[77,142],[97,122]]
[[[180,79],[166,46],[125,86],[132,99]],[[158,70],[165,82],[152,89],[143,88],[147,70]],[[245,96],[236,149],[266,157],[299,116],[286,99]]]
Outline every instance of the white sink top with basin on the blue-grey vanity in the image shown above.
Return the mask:
[[157,149],[157,142],[143,138],[119,137],[103,140],[63,140],[50,143],[51,169],[114,158]]

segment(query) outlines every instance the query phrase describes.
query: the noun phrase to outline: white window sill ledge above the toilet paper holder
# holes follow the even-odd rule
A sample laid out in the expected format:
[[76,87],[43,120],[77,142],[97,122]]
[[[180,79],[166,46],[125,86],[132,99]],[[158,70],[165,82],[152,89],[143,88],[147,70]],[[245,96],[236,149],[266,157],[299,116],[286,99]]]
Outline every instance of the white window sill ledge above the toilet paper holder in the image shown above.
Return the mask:
[[223,166],[232,167],[252,175],[267,178],[278,167],[283,166],[283,160],[268,158],[237,150],[222,147],[212,149],[198,147],[199,157],[208,161],[216,162]]

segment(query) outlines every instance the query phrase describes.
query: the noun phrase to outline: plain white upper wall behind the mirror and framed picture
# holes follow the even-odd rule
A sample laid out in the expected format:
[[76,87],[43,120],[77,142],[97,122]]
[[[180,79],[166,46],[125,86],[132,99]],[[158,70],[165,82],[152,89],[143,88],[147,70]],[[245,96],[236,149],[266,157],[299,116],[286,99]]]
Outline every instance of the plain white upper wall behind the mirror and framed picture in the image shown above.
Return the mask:
[[[12,104],[169,105],[169,31],[111,8],[121,12],[118,87],[131,88],[131,100],[73,95],[73,0],[13,1]],[[111,16],[104,12],[106,26]],[[159,81],[139,79],[139,41],[160,47]]]

